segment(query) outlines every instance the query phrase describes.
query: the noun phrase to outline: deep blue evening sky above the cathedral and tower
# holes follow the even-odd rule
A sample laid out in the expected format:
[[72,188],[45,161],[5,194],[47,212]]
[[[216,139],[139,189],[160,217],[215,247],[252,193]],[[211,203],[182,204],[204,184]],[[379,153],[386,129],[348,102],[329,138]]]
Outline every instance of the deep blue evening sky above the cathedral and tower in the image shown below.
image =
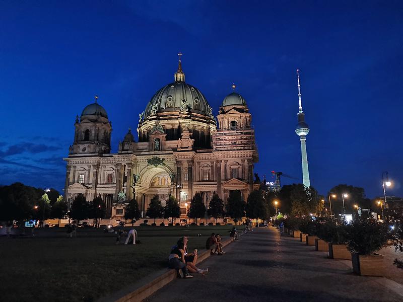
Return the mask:
[[[99,96],[112,151],[153,94],[186,82],[217,114],[232,82],[253,115],[260,175],[300,179],[300,69],[311,184],[403,195],[401,2],[2,1],[0,184],[64,183],[74,120]],[[283,184],[293,180],[283,178]]]

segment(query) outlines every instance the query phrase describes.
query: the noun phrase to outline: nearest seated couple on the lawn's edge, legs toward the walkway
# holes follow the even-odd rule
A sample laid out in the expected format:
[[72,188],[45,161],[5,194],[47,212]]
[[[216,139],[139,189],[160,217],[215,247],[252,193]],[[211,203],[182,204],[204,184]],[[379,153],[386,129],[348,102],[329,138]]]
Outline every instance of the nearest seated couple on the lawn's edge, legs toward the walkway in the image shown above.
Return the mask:
[[199,269],[196,267],[197,250],[193,253],[187,253],[187,237],[181,237],[175,246],[172,247],[169,255],[168,267],[178,270],[181,278],[191,278],[191,273],[205,274],[209,269]]

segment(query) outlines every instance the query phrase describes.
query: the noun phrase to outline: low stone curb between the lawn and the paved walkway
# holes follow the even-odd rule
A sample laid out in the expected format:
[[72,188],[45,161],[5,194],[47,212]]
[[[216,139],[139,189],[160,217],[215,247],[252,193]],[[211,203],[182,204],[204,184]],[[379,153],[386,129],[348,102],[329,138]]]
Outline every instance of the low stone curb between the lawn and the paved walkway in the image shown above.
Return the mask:
[[[223,247],[227,246],[232,242],[232,238],[223,241]],[[210,251],[205,251],[198,255],[197,262],[206,260],[209,258]],[[151,274],[139,282],[132,284],[122,290],[119,290],[111,295],[106,297],[102,297],[98,299],[98,302],[107,302],[107,301],[115,301],[115,302],[141,302],[142,300],[151,296],[154,292],[161,289],[169,282],[176,279],[176,270],[174,269],[162,269],[154,274]]]

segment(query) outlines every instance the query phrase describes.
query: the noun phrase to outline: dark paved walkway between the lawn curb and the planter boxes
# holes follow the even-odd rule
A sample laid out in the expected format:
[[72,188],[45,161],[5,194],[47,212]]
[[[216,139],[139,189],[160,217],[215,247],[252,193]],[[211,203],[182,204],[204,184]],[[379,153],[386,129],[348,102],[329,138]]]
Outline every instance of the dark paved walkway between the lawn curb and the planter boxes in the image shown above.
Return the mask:
[[403,300],[402,285],[353,275],[348,261],[327,259],[297,239],[280,238],[273,228],[255,229],[225,251],[201,263],[209,267],[206,276],[176,279],[148,301]]

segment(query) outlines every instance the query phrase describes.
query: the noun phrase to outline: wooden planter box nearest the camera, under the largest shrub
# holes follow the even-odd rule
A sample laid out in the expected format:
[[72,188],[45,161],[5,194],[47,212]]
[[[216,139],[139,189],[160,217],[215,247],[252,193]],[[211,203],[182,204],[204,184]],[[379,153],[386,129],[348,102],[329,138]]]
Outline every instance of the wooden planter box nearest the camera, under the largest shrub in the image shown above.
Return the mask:
[[379,276],[385,275],[385,264],[383,263],[383,255],[358,255],[351,253],[353,262],[353,272],[360,276]]

